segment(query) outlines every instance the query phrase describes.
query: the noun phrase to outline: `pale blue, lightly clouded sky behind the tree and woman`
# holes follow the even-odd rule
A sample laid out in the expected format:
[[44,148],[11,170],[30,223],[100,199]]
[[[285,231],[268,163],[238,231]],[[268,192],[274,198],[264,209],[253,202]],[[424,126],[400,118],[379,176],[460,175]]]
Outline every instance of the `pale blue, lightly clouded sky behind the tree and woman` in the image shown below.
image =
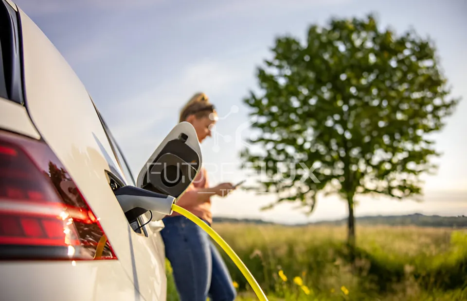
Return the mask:
[[[87,87],[136,178],[149,155],[177,124],[180,108],[196,92],[216,104],[220,120],[203,142],[212,184],[249,180],[240,170],[236,137],[250,135],[242,99],[257,89],[255,68],[283,34],[304,38],[313,23],[330,17],[363,17],[402,33],[414,28],[436,43],[441,66],[462,97],[436,134],[436,175],[424,177],[424,201],[359,197],[356,216],[467,215],[467,2],[461,0],[16,0],[54,43]],[[240,131],[241,129],[241,131]],[[247,184],[249,182],[247,181]],[[297,204],[260,207],[275,195],[241,189],[213,198],[217,217],[302,223],[346,217],[345,203],[319,198],[307,216]]]

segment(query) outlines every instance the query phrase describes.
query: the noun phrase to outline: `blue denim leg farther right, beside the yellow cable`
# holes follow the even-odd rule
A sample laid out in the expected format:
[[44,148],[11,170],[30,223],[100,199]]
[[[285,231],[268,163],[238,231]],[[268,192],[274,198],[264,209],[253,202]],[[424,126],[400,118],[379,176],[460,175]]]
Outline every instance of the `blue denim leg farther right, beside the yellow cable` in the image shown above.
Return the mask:
[[236,297],[236,290],[232,282],[229,270],[225,265],[216,246],[209,241],[213,262],[213,274],[211,277],[211,287],[209,296],[212,301],[233,301]]

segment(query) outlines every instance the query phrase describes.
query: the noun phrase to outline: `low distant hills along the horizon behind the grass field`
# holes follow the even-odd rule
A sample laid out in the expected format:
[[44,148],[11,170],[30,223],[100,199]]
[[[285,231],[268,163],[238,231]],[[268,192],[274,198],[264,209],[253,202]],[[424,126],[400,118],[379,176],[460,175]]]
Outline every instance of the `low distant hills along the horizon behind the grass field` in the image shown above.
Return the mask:
[[[253,224],[274,224],[273,222],[264,221],[261,219],[238,219],[229,217],[215,217],[214,222],[230,222],[230,223],[253,223]],[[392,225],[392,226],[419,226],[419,227],[450,227],[450,228],[467,228],[467,217],[442,217],[442,216],[426,216],[415,213],[411,215],[400,216],[366,216],[357,217],[357,223],[363,225]],[[347,219],[318,221],[309,223],[311,225],[346,225]]]

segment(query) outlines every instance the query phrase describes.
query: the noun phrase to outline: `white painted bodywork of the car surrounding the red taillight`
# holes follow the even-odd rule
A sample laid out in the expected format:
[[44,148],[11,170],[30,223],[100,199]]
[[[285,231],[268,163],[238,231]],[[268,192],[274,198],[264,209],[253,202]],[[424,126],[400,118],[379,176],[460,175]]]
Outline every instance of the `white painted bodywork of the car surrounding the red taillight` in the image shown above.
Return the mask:
[[78,300],[78,296],[79,300],[165,300],[162,239],[148,226],[146,236],[128,224],[106,172],[123,184],[131,181],[125,178],[85,86],[19,7],[18,14],[25,106],[30,120],[25,120],[24,107],[20,113],[21,105],[0,102],[2,108],[9,107],[18,116],[2,120],[0,128],[30,136],[37,130],[35,137],[39,134],[54,151],[99,218],[118,260],[1,263],[2,274],[15,274],[8,280],[12,287],[1,284],[8,287],[7,296],[11,298],[7,300],[62,298],[57,296],[66,296],[67,300]]

